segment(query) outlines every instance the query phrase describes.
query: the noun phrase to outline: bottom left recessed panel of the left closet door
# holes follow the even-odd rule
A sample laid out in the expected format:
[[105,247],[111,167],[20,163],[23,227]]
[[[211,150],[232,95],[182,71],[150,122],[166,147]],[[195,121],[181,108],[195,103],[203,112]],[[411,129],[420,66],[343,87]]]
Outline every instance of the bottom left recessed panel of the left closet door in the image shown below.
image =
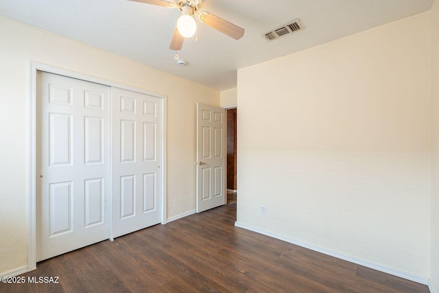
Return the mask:
[[72,182],[49,185],[50,236],[72,231]]

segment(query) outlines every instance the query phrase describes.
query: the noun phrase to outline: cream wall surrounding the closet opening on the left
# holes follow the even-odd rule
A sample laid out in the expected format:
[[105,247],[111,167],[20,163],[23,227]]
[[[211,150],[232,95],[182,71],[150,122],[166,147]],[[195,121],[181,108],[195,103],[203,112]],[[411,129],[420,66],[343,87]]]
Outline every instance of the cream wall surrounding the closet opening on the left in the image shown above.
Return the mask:
[[0,16],[0,274],[27,266],[29,61],[167,95],[167,215],[195,209],[195,103],[219,92]]

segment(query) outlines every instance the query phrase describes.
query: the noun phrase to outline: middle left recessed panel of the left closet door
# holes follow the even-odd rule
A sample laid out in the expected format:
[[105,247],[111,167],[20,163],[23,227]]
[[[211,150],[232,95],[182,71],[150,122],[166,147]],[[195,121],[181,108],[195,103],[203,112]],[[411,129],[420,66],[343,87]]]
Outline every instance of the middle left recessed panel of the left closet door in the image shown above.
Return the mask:
[[49,165],[71,165],[71,115],[49,114]]

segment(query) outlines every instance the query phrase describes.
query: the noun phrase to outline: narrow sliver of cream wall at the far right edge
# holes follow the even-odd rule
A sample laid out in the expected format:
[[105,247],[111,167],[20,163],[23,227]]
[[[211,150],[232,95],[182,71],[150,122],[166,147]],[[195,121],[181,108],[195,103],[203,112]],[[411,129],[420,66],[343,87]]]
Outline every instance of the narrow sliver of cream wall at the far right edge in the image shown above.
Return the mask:
[[439,1],[431,10],[433,158],[431,180],[431,287],[439,293]]

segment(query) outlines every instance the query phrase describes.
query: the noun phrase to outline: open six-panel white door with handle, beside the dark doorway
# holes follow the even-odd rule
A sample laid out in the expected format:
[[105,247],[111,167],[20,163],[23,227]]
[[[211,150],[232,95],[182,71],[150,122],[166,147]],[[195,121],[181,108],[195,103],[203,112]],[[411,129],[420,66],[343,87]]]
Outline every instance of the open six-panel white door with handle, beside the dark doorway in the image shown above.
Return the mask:
[[226,112],[197,103],[197,213],[226,203]]

